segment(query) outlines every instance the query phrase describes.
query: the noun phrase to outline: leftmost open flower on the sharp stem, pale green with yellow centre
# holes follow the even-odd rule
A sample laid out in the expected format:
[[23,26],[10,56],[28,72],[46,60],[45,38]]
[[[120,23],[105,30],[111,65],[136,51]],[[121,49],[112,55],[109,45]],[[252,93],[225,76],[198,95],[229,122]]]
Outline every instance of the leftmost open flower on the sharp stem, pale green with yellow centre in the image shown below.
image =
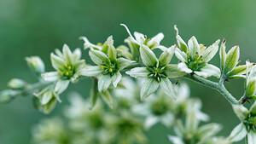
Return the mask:
[[50,54],[51,64],[55,68],[55,72],[45,72],[42,74],[42,78],[45,81],[57,81],[55,93],[61,94],[67,89],[69,82],[78,81],[79,71],[85,67],[85,60],[80,60],[80,49],[75,49],[72,53],[67,44],[64,44],[62,53],[59,49],[55,49],[55,53],[56,55]]

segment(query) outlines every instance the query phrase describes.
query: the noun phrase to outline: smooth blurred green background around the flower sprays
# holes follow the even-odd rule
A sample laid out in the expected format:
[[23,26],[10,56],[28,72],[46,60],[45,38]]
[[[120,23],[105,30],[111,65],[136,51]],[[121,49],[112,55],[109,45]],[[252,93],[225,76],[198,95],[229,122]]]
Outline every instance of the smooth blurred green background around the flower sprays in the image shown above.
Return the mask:
[[[26,56],[40,55],[50,71],[50,52],[64,43],[72,49],[82,48],[80,36],[98,43],[113,35],[115,45],[123,43],[128,35],[120,23],[148,37],[164,32],[162,44],[166,46],[175,42],[174,25],[185,41],[195,35],[200,43],[209,45],[225,37],[227,49],[240,45],[242,64],[247,59],[256,61],[255,5],[253,0],[0,0],[0,89],[7,88],[10,78],[35,81],[26,66]],[[218,59],[216,56],[211,63],[218,66]],[[223,125],[220,135],[229,135],[239,121],[228,101],[217,91],[190,81],[189,85],[191,95],[201,97],[203,112],[211,116],[212,122]],[[69,90],[86,96],[87,88],[90,81],[84,80]],[[231,81],[227,89],[239,98],[242,80]],[[29,97],[0,105],[0,144],[29,143],[33,125],[42,118],[60,115],[67,104],[65,94],[61,96],[63,103],[49,115],[35,110]],[[170,143],[168,132],[161,125],[154,126],[147,132],[150,144]]]

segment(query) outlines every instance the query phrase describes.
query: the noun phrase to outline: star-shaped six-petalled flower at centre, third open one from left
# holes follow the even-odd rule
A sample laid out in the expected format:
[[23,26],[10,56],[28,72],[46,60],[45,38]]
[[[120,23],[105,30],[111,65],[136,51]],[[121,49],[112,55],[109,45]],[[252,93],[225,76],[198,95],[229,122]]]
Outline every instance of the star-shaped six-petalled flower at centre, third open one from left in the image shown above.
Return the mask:
[[184,75],[184,72],[177,70],[177,65],[169,65],[172,59],[175,46],[166,49],[159,60],[154,52],[146,45],[141,45],[140,55],[146,67],[136,67],[126,72],[134,78],[146,78],[141,89],[141,99],[153,94],[159,85],[166,91],[166,94],[175,97],[175,91],[168,78],[177,78]]

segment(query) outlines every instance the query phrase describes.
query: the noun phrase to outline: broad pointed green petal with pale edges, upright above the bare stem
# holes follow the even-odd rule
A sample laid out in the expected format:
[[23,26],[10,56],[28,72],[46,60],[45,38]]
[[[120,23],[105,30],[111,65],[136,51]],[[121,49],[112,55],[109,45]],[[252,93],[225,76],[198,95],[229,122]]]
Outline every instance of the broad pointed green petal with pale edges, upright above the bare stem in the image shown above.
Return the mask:
[[239,53],[239,46],[235,46],[230,49],[224,63],[224,74],[227,74],[235,69],[237,61],[239,60]]

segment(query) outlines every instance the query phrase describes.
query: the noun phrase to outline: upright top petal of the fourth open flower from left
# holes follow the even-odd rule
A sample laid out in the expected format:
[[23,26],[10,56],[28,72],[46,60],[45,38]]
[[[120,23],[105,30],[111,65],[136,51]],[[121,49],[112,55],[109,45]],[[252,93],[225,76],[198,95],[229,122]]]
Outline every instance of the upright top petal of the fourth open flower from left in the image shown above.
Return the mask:
[[190,58],[192,58],[192,60],[194,60],[196,53],[198,53],[198,55],[201,55],[201,49],[194,36],[189,39],[188,44],[189,44],[189,56]]

